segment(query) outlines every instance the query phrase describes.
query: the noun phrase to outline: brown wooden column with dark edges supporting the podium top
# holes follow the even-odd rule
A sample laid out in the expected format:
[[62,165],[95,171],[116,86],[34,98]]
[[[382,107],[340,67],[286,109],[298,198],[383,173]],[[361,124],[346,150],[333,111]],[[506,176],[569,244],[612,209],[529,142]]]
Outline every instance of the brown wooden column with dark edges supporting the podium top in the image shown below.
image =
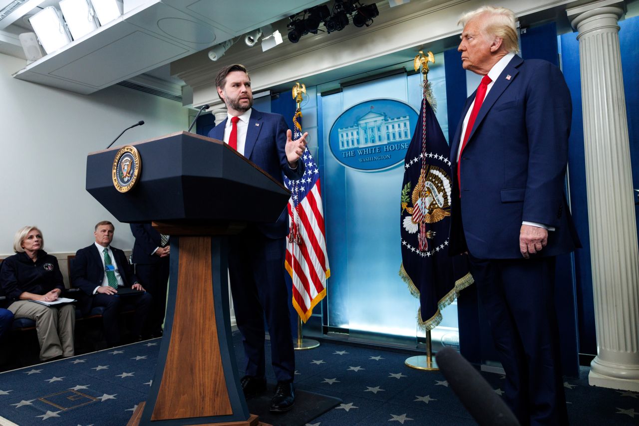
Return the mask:
[[242,393],[229,321],[225,235],[243,225],[153,226],[171,235],[167,316],[148,400],[129,424],[261,424]]

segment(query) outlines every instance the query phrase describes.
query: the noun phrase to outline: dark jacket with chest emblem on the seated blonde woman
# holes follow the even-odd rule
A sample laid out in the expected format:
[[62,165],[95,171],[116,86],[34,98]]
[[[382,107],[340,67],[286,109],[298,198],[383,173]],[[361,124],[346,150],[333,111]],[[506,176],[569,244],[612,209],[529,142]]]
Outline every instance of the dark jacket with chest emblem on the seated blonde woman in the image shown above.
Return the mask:
[[53,289],[65,289],[58,259],[44,250],[35,262],[26,253],[7,257],[0,268],[0,287],[10,300],[19,300],[24,292],[46,294]]

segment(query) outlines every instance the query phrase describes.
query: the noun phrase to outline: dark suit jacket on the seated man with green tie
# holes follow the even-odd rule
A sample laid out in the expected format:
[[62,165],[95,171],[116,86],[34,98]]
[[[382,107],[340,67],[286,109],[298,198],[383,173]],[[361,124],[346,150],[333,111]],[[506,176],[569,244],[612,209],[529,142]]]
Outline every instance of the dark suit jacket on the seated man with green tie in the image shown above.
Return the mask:
[[[120,250],[111,246],[113,257],[118,264],[119,274],[125,287],[131,287],[139,282],[133,273],[133,267],[127,260],[127,255]],[[104,280],[104,265],[102,264],[102,254],[98,252],[95,244],[84,247],[75,253],[73,266],[71,268],[71,281],[73,287],[82,289],[88,296],[93,295],[93,290],[98,285],[102,285]]]

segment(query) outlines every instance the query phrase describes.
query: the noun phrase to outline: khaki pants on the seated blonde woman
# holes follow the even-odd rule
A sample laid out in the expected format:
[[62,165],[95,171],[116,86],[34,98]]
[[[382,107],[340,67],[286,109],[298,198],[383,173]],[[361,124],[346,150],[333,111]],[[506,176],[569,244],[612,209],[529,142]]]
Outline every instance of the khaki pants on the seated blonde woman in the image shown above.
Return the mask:
[[29,318],[36,322],[40,360],[56,356],[73,356],[73,330],[75,330],[75,307],[71,304],[47,307],[34,301],[19,300],[9,308],[13,316]]

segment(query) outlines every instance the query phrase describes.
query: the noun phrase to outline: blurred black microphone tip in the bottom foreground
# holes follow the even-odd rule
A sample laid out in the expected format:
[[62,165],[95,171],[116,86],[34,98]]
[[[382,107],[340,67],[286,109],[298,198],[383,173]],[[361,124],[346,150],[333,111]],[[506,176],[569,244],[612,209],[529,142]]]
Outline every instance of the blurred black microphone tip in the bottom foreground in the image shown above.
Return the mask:
[[436,360],[450,388],[479,425],[519,426],[492,386],[457,351],[445,347],[438,351]]

